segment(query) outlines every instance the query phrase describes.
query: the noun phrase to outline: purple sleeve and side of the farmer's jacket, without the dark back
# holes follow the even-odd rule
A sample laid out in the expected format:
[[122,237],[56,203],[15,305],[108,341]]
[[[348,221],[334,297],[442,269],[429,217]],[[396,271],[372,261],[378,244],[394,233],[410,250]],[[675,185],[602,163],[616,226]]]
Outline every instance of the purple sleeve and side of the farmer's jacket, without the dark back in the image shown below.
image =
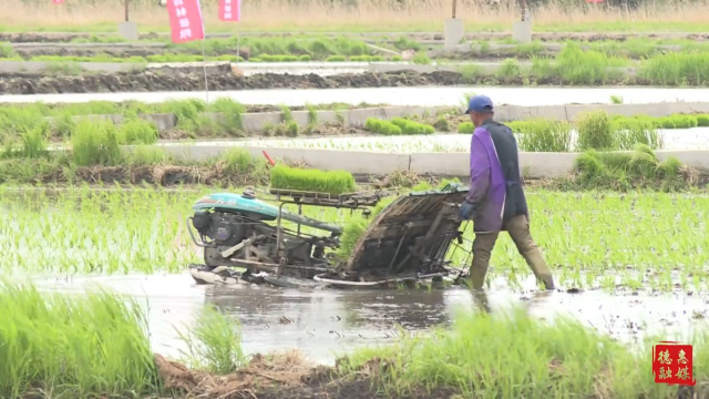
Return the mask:
[[470,192],[466,201],[474,203],[475,232],[500,232],[506,196],[505,176],[490,132],[475,129],[470,144]]

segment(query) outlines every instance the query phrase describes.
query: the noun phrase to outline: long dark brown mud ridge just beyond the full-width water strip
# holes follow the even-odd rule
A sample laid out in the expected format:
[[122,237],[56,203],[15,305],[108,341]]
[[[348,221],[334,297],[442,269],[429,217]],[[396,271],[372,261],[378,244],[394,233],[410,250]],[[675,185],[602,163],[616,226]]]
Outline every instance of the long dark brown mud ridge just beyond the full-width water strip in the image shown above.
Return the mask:
[[[608,79],[605,84],[646,84],[638,79],[618,76]],[[349,89],[349,88],[398,88],[398,86],[454,86],[470,84],[562,84],[562,78],[493,76],[467,75],[450,71],[419,73],[398,71],[388,73],[346,73],[320,76],[315,73],[292,75],[288,73],[263,73],[249,76],[235,74],[213,75],[209,90],[259,90],[259,89]],[[692,82],[689,82],[692,84]],[[145,71],[120,72],[113,74],[0,74],[0,94],[56,94],[56,93],[107,93],[107,92],[161,92],[161,91],[202,91],[204,76],[199,73],[185,73],[175,70],[174,74],[161,74]]]

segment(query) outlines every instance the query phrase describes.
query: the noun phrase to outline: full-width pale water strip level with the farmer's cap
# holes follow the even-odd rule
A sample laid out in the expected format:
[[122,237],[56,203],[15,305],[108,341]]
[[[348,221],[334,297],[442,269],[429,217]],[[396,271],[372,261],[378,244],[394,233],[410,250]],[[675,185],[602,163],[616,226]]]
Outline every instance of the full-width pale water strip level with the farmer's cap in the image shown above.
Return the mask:
[[[563,105],[610,103],[610,96],[621,96],[626,104],[655,102],[697,102],[709,99],[709,89],[658,89],[658,88],[382,88],[382,89],[326,89],[326,90],[246,90],[210,92],[208,100],[232,98],[243,104],[286,104],[302,106],[310,104],[378,102],[391,105],[460,106],[465,93],[486,94],[496,104],[510,105]],[[91,93],[91,94],[32,94],[1,95],[0,103],[43,101],[48,103],[80,103],[86,101],[163,102],[168,99],[203,99],[205,92],[153,92],[153,93]]]

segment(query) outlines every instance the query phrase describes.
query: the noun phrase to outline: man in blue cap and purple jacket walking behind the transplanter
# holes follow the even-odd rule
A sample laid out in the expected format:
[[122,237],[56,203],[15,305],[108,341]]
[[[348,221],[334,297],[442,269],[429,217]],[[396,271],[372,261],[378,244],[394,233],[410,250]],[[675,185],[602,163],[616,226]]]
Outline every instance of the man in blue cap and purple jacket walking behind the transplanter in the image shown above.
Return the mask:
[[485,95],[473,96],[465,113],[470,114],[475,132],[470,145],[470,192],[461,205],[460,219],[472,219],[475,228],[470,272],[473,289],[483,287],[500,232],[510,234],[537,282],[554,289],[552,273],[530,234],[517,142],[512,131],[493,121],[492,100]]

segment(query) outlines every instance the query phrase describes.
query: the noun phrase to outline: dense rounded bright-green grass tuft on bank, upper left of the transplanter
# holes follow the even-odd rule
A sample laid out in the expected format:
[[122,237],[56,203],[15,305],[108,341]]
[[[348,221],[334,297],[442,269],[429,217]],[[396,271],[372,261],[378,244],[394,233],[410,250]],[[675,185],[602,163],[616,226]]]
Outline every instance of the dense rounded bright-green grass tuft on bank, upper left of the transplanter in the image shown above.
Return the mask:
[[115,125],[109,121],[80,121],[71,134],[71,154],[76,166],[119,163],[121,147]]

